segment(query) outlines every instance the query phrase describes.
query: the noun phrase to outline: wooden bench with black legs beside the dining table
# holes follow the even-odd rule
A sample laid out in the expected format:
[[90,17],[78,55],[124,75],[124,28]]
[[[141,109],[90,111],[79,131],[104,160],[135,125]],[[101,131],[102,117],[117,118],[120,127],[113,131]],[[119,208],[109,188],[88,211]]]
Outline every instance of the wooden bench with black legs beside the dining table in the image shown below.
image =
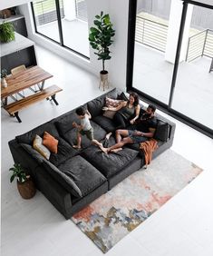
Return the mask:
[[25,97],[24,99],[17,101],[15,103],[10,103],[8,105],[5,105],[5,110],[10,114],[17,118],[19,123],[22,123],[22,120],[20,119],[18,112],[25,107],[38,103],[44,99],[48,99],[48,97],[51,97],[53,102],[58,105],[57,101],[55,100],[55,94],[63,91],[62,88],[58,87],[57,85],[52,85],[50,87],[45,88],[39,93],[30,95]]

